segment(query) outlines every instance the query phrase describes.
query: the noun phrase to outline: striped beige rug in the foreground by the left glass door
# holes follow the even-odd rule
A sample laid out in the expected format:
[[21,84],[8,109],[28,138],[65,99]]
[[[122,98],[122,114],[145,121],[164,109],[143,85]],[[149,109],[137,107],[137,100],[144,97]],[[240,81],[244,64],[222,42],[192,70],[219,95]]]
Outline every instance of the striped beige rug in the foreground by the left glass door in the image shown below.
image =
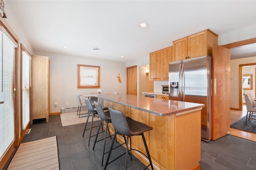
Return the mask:
[[20,144],[7,170],[58,170],[56,136]]

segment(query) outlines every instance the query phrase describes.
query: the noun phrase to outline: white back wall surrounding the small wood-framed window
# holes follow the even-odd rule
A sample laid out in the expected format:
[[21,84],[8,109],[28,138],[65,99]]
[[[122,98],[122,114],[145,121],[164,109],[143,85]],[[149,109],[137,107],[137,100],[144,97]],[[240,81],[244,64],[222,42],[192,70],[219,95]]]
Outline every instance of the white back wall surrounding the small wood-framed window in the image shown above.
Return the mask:
[[[126,63],[69,56],[42,51],[34,55],[50,57],[50,113],[60,112],[61,108],[78,106],[76,93],[90,94],[98,88],[77,88],[77,64],[100,66],[100,89],[102,93],[119,92],[126,94]],[[117,76],[120,74],[121,83]],[[54,108],[54,103],[58,106]],[[66,102],[69,103],[66,106]]]

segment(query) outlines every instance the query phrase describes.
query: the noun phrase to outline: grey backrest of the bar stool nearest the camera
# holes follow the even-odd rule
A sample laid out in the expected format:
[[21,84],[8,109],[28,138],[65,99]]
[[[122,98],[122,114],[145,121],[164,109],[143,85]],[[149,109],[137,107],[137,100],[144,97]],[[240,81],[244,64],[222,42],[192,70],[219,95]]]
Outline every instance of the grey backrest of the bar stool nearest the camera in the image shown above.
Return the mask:
[[123,114],[123,112],[119,110],[114,110],[111,107],[108,107],[111,117],[111,122],[116,131],[118,131],[120,134],[130,136],[130,130],[128,127],[128,123],[126,121],[126,118]]

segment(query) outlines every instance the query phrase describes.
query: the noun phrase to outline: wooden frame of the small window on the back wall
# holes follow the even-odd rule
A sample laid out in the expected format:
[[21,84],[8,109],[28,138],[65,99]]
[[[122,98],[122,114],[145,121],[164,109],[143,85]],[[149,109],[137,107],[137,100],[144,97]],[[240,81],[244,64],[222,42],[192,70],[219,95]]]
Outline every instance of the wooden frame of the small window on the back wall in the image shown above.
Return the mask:
[[[95,86],[92,85],[80,85],[80,67],[91,67],[91,68],[98,68],[98,84]],[[84,64],[77,64],[77,88],[100,88],[100,66],[91,66],[91,65],[84,65]]]

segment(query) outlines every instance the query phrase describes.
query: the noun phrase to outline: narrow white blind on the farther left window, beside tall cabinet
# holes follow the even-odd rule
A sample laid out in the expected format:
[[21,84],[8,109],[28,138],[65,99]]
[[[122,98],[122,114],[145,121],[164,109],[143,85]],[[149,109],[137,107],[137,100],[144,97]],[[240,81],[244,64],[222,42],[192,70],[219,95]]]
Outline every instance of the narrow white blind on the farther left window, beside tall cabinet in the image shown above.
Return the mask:
[[30,61],[30,55],[22,49],[22,130],[30,120]]

